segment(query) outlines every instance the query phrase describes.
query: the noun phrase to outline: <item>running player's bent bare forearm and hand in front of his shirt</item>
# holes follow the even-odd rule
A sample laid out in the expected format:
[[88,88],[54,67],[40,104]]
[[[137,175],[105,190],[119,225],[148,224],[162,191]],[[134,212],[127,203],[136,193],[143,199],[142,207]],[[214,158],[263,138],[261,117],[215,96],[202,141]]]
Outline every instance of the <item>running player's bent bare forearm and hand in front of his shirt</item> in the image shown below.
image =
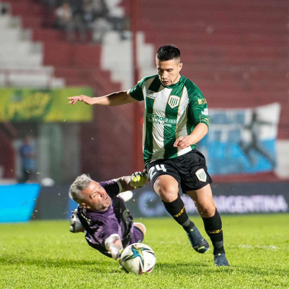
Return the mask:
[[198,123],[192,132],[187,136],[180,136],[174,143],[174,147],[178,149],[184,149],[191,144],[195,144],[200,141],[208,132],[208,127],[204,123]]

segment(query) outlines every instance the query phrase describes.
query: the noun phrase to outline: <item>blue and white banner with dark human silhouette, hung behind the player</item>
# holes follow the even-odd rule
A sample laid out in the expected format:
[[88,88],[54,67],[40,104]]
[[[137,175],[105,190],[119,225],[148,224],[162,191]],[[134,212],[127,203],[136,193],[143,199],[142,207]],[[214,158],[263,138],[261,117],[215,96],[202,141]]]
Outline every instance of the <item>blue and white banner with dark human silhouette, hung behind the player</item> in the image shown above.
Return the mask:
[[208,134],[197,144],[210,175],[272,171],[280,105],[211,109]]

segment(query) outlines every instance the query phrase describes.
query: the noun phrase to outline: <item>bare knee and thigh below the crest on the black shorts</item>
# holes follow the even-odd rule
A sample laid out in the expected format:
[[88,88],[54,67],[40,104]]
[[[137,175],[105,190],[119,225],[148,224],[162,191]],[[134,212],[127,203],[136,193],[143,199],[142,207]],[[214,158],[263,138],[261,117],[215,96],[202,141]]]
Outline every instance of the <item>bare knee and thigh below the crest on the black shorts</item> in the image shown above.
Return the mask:
[[214,216],[216,207],[210,184],[205,185],[199,190],[192,190],[186,193],[194,201],[197,211],[201,217],[210,218]]

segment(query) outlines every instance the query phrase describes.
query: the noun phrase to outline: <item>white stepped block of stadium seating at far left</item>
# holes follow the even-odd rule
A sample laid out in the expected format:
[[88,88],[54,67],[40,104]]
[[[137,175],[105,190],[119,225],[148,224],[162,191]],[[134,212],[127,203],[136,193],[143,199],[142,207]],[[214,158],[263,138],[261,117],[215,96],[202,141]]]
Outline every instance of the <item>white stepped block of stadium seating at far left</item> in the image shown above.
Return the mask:
[[5,3],[5,9],[0,16],[0,85],[64,86],[64,79],[54,77],[53,67],[42,65],[42,44],[30,40],[31,33],[22,28],[21,18],[9,13],[9,3]]

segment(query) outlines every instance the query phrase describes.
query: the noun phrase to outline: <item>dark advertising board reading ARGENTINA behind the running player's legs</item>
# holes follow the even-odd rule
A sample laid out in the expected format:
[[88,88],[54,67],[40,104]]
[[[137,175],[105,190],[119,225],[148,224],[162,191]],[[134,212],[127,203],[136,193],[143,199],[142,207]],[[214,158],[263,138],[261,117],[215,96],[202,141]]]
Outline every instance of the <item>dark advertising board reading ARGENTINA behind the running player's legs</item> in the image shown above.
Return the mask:
[[[221,214],[252,214],[288,212],[289,183],[212,183],[213,199]],[[182,194],[188,214],[198,214],[194,202]],[[149,185],[134,191],[127,203],[134,217],[169,216],[160,197]]]

